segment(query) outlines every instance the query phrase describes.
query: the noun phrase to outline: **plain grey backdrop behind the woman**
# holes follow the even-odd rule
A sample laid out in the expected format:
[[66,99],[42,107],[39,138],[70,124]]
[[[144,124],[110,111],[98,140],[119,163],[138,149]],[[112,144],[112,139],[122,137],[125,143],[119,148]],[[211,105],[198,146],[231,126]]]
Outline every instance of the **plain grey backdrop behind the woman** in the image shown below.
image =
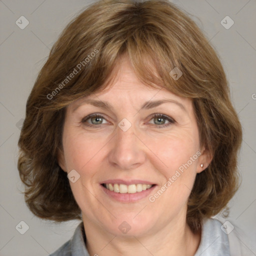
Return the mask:
[[[70,19],[87,0],[0,0],[0,255],[48,255],[68,240],[77,221],[55,224],[34,217],[21,193],[17,164],[17,140],[25,102],[49,49]],[[239,156],[242,184],[230,202],[229,221],[248,238],[243,245],[256,255],[256,1],[173,0],[194,15],[221,56],[231,97],[243,127]],[[107,10],[106,10],[107,11]],[[20,29],[15,21],[25,16],[29,24]],[[220,21],[230,16],[234,24],[225,29]],[[29,229],[20,234],[21,221]],[[18,225],[20,227],[20,224]],[[24,228],[24,225],[23,227]],[[17,228],[18,229],[18,228]],[[19,229],[21,230],[21,228]]]

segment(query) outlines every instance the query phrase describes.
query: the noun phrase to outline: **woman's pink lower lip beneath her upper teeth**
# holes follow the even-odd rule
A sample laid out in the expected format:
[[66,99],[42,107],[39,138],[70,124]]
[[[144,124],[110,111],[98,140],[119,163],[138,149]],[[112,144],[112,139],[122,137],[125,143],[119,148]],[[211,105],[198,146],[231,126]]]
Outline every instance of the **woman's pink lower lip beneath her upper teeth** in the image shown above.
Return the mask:
[[109,189],[105,188],[103,185],[100,185],[106,195],[110,196],[111,198],[120,201],[120,202],[135,202],[140,199],[147,197],[152,190],[156,187],[156,185],[151,186],[146,190],[142,190],[141,192],[136,193],[116,193],[114,191],[110,191]]

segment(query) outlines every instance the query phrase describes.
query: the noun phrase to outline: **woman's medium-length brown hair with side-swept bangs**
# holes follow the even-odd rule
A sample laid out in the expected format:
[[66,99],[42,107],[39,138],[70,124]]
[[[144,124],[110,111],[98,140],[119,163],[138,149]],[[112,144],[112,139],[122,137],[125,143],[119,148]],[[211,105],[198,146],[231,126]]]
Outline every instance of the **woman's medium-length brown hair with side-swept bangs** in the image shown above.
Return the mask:
[[[213,156],[196,175],[188,199],[187,223],[196,232],[202,218],[221,211],[237,189],[241,126],[215,51],[188,15],[167,0],[98,1],[63,30],[26,104],[18,141],[25,201],[41,218],[81,217],[57,161],[65,109],[103,89],[124,54],[144,84],[193,101],[200,143]],[[174,67],[182,71],[177,80],[170,75]]]

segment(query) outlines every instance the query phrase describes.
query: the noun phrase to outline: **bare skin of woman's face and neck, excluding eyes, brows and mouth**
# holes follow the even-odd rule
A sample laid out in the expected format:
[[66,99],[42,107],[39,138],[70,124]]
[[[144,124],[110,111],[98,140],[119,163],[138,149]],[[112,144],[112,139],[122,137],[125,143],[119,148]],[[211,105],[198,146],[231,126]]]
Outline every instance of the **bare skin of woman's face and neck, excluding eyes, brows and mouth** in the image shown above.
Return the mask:
[[[107,101],[112,108],[84,99],[67,107],[59,165],[80,175],[70,186],[82,211],[90,255],[194,255],[200,233],[193,234],[186,223],[187,199],[196,173],[207,167],[211,157],[200,147],[191,99],[142,84],[127,57],[118,65],[111,84],[87,99]],[[184,109],[167,102],[139,110],[145,101],[162,99],[176,101]],[[91,113],[103,115],[96,122],[101,124],[93,124],[95,118],[84,120]],[[161,124],[154,113],[174,122],[162,119]],[[123,118],[131,123],[125,132],[118,127]],[[119,202],[100,186],[106,179],[148,180],[156,184],[153,195],[197,151],[201,155],[154,202],[148,196],[137,202]],[[123,221],[131,227],[125,234],[118,228]]]

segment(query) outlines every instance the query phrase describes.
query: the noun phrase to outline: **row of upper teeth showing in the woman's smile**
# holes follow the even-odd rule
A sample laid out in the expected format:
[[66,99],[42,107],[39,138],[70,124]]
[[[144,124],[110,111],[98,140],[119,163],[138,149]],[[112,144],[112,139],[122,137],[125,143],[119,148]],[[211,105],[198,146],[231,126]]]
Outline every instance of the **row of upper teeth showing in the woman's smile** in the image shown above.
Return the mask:
[[136,193],[141,192],[142,190],[146,190],[152,185],[149,184],[131,184],[131,185],[125,185],[125,184],[105,184],[106,188],[110,191],[114,191],[116,193]]

